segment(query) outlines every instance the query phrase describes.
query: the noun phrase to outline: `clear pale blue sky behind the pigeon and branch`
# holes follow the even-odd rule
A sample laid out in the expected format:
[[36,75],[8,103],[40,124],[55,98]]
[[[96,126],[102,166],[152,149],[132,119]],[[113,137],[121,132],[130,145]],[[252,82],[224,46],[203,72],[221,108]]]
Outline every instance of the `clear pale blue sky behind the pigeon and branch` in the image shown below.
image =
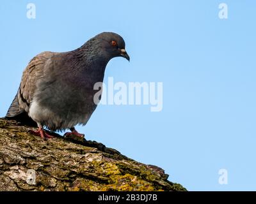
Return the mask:
[[[36,18],[26,17],[35,3]],[[227,3],[228,19],[218,18]],[[122,35],[131,62],[113,59],[115,82],[163,82],[163,110],[99,106],[88,140],[161,166],[190,191],[256,190],[256,3],[232,1],[14,1],[0,4],[4,116],[36,54],[73,50],[102,31]],[[218,171],[228,171],[228,184]]]

